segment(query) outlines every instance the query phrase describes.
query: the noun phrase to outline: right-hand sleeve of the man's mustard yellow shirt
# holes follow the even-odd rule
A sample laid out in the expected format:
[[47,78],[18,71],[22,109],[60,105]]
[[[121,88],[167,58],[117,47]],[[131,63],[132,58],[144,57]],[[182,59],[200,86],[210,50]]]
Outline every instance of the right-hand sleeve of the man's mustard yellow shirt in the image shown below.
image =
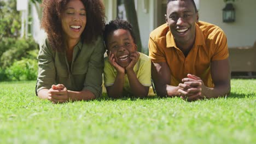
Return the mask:
[[222,29],[218,29],[216,33],[216,47],[212,56],[212,61],[218,61],[229,57],[228,44],[226,35]]

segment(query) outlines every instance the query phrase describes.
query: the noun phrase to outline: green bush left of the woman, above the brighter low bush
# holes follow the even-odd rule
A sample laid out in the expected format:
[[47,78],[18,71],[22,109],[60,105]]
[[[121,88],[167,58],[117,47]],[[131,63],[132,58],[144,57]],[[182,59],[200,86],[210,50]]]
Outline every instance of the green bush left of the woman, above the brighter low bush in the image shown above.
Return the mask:
[[6,38],[0,43],[0,47],[3,47],[3,50],[0,51],[0,66],[2,68],[10,67],[14,61],[20,61],[22,58],[36,59],[39,50],[38,44],[32,38]]

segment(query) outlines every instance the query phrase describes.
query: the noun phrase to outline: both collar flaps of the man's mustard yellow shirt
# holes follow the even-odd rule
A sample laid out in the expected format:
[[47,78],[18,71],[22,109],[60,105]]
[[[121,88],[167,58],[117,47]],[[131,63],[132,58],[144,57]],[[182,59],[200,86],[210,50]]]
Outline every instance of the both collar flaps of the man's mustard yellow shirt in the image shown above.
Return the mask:
[[[200,29],[200,27],[196,23],[196,38],[195,38],[195,45],[205,45],[205,37],[203,37],[203,33]],[[169,30],[166,34],[166,47],[176,47],[176,43],[174,40],[174,37]]]

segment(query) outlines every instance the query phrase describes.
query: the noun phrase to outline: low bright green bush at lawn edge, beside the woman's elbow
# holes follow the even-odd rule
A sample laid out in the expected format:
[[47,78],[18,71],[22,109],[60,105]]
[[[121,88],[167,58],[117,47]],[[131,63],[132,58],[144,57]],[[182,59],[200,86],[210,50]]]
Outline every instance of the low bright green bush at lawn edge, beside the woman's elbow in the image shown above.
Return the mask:
[[36,80],[37,79],[37,60],[24,58],[15,61],[11,67],[7,69],[10,80]]

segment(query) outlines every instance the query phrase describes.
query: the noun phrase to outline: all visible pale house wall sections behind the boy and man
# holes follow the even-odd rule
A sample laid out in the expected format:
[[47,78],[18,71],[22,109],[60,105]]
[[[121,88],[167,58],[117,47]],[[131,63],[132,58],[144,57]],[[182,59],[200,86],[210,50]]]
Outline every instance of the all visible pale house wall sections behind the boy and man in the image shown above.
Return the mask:
[[[222,9],[225,7],[223,0],[194,0],[199,8],[199,20],[207,21],[219,26],[228,38],[228,46],[244,47],[253,46],[256,41],[256,2],[255,0],[236,0],[236,21],[224,23],[222,21]],[[117,13],[117,0],[104,0],[107,22],[113,20]],[[139,31],[141,34],[142,48],[148,49],[149,34],[160,26],[162,15],[165,12],[166,0],[135,0],[138,15]],[[148,3],[147,11],[143,4]],[[200,7],[199,7],[200,6]]]

